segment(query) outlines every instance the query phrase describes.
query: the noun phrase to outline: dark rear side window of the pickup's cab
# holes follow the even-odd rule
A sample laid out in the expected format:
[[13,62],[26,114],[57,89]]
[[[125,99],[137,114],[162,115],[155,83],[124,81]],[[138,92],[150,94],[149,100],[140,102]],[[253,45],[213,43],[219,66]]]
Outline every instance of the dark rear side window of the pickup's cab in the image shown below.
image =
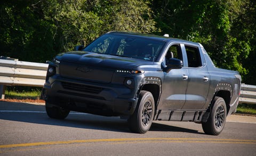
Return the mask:
[[201,67],[201,57],[198,47],[186,46],[186,53],[188,58],[188,67]]

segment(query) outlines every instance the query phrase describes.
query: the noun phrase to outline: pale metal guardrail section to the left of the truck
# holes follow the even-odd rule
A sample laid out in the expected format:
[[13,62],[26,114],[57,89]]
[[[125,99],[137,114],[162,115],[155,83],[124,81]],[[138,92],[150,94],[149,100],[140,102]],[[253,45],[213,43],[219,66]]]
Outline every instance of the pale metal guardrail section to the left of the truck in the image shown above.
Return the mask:
[[45,63],[0,59],[0,99],[4,99],[5,85],[43,87],[47,68]]

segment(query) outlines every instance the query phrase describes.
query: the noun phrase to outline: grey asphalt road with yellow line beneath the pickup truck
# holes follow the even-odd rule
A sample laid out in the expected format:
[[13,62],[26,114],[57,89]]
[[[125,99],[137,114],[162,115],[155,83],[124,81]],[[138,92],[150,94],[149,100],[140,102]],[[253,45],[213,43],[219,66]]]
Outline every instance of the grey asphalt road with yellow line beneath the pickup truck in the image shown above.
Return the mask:
[[200,124],[157,121],[134,134],[118,117],[71,112],[57,120],[38,103],[0,101],[0,155],[255,155],[255,123],[232,116],[211,136]]

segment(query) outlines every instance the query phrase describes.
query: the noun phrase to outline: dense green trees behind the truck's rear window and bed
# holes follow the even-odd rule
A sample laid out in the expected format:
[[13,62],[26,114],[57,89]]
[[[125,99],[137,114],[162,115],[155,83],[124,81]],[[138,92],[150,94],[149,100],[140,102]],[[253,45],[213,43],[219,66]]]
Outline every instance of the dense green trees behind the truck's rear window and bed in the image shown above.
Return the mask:
[[[218,67],[236,70],[244,80],[250,75],[244,60],[255,45],[248,38],[255,36],[254,1],[165,0],[153,1],[152,8],[162,34],[200,42]],[[243,24],[248,15],[251,26]]]

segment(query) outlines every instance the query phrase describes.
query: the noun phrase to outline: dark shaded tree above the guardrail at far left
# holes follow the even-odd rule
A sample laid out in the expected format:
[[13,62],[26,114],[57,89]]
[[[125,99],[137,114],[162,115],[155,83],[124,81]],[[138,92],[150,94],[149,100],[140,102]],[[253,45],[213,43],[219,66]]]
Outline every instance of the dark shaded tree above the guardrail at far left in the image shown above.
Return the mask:
[[51,58],[51,25],[36,1],[2,1],[0,13],[1,55],[31,62]]

